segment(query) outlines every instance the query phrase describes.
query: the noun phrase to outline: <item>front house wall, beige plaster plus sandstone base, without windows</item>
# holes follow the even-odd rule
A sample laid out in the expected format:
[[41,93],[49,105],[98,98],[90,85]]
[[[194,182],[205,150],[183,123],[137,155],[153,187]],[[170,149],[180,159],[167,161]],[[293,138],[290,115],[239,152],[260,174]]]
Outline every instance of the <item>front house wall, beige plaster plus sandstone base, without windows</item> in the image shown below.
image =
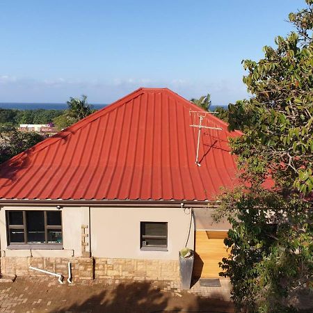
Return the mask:
[[[8,248],[7,210],[55,210],[56,207],[2,207],[0,210],[1,273],[41,276],[29,266],[67,277],[72,264],[74,280],[132,278],[179,280],[178,252],[194,248],[191,211],[180,208],[62,207],[63,249]],[[168,250],[142,251],[142,221],[168,223]],[[91,253],[90,253],[91,250]],[[90,257],[92,255],[92,257]]]

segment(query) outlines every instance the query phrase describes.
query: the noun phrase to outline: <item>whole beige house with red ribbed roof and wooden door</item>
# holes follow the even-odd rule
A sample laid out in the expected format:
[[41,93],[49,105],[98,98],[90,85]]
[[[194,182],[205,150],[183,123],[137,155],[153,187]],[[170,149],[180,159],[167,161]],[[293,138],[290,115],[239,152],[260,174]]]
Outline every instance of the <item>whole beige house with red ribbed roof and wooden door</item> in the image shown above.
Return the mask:
[[[202,125],[201,128],[198,125]],[[1,273],[74,278],[218,276],[230,225],[214,224],[236,184],[227,124],[167,88],[140,88],[0,167]],[[199,140],[198,140],[199,139]]]

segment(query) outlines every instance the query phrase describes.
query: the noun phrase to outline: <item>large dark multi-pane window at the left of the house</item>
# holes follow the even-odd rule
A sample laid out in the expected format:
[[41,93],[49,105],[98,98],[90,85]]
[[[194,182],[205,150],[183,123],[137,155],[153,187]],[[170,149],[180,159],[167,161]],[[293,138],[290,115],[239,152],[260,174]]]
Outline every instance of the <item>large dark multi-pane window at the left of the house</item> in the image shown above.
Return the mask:
[[61,211],[7,211],[8,244],[61,245]]

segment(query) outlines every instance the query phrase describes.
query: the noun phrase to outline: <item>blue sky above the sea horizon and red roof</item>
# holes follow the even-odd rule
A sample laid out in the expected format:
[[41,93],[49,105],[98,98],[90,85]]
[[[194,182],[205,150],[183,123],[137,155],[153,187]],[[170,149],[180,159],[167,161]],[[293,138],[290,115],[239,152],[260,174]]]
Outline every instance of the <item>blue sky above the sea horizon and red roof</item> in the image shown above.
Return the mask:
[[247,97],[245,58],[304,0],[0,0],[0,102],[110,103],[168,87],[213,104]]

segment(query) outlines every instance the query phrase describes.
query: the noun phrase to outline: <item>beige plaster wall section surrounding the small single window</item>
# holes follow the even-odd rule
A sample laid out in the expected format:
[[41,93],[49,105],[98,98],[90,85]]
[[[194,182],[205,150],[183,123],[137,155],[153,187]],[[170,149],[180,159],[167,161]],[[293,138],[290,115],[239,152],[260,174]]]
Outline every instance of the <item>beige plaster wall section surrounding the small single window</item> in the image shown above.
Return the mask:
[[[91,251],[94,257],[127,259],[172,259],[184,248],[191,210],[181,208],[94,207],[90,210]],[[143,251],[140,248],[141,222],[168,222],[168,250]],[[194,227],[188,247],[194,246]]]

